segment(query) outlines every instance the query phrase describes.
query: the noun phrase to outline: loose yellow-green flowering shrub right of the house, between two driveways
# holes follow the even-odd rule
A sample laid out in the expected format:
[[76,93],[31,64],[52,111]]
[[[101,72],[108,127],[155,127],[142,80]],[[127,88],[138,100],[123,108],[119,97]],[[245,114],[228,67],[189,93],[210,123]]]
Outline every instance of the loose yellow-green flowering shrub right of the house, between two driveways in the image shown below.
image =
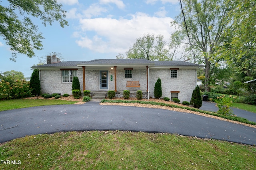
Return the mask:
[[219,108],[217,113],[226,115],[226,116],[232,116],[233,115],[232,110],[229,108],[231,107],[233,100],[235,99],[236,97],[232,98],[232,95],[230,95],[229,97],[226,97],[225,95],[217,97],[216,106]]

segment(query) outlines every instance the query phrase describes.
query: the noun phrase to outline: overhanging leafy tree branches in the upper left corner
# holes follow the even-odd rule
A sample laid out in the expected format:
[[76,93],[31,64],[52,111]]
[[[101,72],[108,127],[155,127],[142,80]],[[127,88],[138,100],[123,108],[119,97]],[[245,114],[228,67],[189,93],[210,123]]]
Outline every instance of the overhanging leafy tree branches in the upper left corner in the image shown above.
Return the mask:
[[12,61],[16,61],[16,53],[28,57],[35,55],[34,50],[42,49],[42,33],[32,22],[40,18],[44,26],[59,22],[60,26],[68,26],[64,20],[66,11],[57,0],[8,0],[8,6],[2,6],[0,1],[0,36],[2,36],[12,51]]

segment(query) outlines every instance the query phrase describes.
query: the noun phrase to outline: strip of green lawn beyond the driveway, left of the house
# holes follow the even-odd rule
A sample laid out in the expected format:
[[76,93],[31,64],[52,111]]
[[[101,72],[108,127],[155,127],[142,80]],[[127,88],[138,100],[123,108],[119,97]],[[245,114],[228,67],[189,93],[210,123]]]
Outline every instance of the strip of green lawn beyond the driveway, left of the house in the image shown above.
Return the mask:
[[74,103],[76,103],[76,101],[44,99],[11,99],[2,101],[0,100],[0,111],[45,105],[67,105]]

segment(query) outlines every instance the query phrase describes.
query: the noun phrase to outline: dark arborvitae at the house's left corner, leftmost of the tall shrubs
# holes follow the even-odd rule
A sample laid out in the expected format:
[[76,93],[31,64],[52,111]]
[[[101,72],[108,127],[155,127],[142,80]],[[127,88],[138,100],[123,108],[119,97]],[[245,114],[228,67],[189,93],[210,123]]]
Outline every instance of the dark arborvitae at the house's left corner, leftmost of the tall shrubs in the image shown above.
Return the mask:
[[41,85],[40,85],[38,69],[34,69],[30,77],[30,88],[32,88],[32,95],[40,95]]

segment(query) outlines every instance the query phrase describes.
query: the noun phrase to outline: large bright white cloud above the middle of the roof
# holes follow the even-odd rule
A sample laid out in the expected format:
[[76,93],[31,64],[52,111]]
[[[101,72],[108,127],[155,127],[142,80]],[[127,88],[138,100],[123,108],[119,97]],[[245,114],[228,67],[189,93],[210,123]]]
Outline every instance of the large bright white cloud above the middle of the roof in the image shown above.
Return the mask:
[[[76,43],[84,48],[101,53],[125,53],[133,45],[136,38],[143,34],[162,34],[166,41],[174,28],[170,27],[170,17],[152,17],[144,13],[131,15],[130,19],[94,18],[80,20],[80,36]],[[86,32],[94,33],[93,36]],[[86,34],[84,36],[83,34]]]

